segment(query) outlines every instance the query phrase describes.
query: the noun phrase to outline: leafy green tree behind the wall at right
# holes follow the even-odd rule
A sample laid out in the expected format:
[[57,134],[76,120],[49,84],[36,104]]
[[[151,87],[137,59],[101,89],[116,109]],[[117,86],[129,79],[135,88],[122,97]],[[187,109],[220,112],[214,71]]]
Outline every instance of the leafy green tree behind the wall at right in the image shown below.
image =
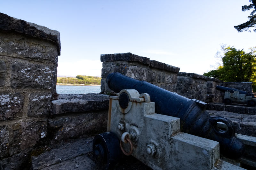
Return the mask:
[[222,66],[203,75],[215,77],[222,81],[253,82],[256,90],[256,47],[249,48],[249,52],[237,50],[228,46],[222,58]]

